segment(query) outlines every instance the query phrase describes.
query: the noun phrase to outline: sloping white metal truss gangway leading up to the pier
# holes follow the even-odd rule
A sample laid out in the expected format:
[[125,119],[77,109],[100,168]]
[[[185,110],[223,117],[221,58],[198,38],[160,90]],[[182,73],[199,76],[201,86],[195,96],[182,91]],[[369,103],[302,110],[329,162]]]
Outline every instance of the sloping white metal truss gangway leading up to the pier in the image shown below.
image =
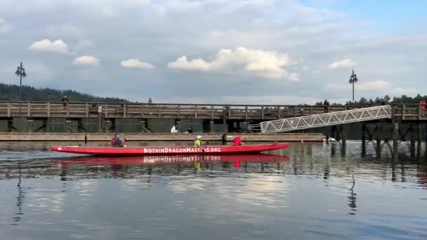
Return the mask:
[[391,119],[390,105],[364,107],[310,116],[298,116],[290,119],[263,121],[260,124],[249,125],[249,130],[261,131],[261,133],[280,133],[322,126],[357,123],[360,121],[372,121],[376,119]]

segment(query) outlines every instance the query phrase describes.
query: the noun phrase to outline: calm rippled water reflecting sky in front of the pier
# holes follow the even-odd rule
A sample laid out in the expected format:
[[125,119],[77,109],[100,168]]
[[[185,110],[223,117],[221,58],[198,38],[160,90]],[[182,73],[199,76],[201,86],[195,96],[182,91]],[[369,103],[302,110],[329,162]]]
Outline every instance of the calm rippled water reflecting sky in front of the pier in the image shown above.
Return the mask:
[[77,158],[51,144],[0,143],[1,240],[427,239],[424,145],[401,142],[393,161],[386,144],[379,156],[351,141],[346,156],[334,142],[206,159]]

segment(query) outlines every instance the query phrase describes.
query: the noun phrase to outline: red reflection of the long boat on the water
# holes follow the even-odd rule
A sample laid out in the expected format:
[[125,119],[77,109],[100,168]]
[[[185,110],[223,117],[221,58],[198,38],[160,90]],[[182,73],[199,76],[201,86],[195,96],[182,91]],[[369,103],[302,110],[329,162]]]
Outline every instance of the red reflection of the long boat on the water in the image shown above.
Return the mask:
[[180,164],[199,162],[233,162],[235,166],[240,166],[242,162],[282,162],[289,161],[287,156],[273,154],[251,154],[251,155],[175,155],[175,156],[126,156],[126,157],[105,157],[105,156],[78,156],[68,157],[58,161],[53,161],[53,166],[74,166],[74,165],[137,165],[137,164]]

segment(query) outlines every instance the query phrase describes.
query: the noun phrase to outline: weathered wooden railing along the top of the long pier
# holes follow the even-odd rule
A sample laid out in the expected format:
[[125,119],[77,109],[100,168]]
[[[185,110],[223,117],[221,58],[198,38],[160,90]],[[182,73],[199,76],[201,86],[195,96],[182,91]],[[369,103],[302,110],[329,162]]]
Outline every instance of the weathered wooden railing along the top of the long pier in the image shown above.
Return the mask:
[[[177,103],[0,102],[0,117],[273,120],[372,106],[209,105]],[[393,118],[427,119],[418,104],[392,105]]]

